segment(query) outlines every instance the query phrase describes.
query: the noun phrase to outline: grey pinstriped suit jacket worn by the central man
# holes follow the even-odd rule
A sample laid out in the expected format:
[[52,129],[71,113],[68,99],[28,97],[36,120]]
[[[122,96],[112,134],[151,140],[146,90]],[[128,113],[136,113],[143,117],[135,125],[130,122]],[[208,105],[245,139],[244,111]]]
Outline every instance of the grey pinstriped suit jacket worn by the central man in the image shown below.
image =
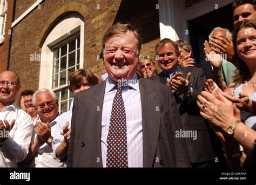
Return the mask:
[[[75,95],[68,167],[103,167],[102,108],[106,80]],[[143,122],[143,167],[191,167],[186,142],[175,137],[181,120],[169,87],[139,79]]]

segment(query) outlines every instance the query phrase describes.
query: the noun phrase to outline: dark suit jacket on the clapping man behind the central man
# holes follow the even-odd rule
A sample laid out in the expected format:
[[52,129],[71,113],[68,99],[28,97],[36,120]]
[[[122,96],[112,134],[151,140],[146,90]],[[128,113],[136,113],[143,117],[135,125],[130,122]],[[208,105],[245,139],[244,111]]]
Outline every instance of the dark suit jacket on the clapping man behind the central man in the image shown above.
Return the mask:
[[[208,133],[207,122],[200,116],[197,106],[197,95],[203,90],[206,77],[203,69],[197,67],[179,67],[178,72],[182,72],[183,78],[186,78],[188,72],[191,72],[190,84],[193,88],[191,97],[174,92],[183,128],[186,131],[197,131],[197,140],[186,138],[188,154],[192,163],[199,163],[212,160],[214,152],[211,145],[211,139]],[[162,84],[167,84],[164,72],[158,76],[150,78]]]

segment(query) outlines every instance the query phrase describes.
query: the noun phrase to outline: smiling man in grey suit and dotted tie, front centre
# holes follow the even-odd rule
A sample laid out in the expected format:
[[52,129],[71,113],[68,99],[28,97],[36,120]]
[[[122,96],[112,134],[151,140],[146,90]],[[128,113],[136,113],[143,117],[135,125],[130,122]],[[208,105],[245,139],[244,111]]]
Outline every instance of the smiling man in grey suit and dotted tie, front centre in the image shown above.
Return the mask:
[[139,79],[141,39],[130,24],[103,38],[107,79],[75,95],[68,167],[191,167],[173,93]]

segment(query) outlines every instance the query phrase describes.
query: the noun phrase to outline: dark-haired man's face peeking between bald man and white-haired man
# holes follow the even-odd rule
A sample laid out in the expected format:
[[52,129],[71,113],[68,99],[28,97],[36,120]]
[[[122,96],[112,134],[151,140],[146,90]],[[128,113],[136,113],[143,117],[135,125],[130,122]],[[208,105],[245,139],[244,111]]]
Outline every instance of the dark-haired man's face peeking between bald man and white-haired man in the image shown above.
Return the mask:
[[32,104],[33,93],[34,92],[32,90],[25,90],[21,93],[20,107],[23,109],[23,111],[25,111],[31,116],[32,120],[35,120],[37,118],[37,113],[36,113],[36,109]]

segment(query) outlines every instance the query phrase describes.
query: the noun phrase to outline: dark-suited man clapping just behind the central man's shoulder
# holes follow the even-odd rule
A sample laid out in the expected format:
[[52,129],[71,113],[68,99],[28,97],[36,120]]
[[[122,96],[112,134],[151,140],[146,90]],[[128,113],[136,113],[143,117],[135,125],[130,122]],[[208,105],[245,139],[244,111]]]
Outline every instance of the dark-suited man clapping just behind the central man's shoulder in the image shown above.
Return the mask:
[[[203,69],[178,66],[178,45],[165,38],[156,46],[158,65],[163,70],[154,81],[171,87],[181,115],[186,144],[192,167],[211,167],[214,152],[208,125],[201,118],[197,106],[197,95],[203,90],[206,77]],[[182,132],[182,131],[181,131]]]

